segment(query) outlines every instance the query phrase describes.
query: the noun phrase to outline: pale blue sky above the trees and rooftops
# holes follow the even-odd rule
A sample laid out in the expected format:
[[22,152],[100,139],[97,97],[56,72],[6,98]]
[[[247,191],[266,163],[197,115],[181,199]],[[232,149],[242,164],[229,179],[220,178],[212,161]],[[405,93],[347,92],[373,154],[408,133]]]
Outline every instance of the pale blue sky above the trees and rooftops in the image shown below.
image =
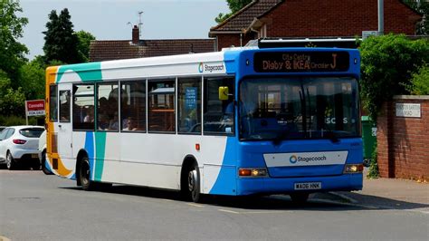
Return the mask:
[[97,40],[130,40],[132,25],[141,14],[141,39],[208,38],[219,13],[229,13],[225,0],[19,0],[28,18],[19,40],[30,50],[27,58],[43,54],[48,14],[68,8],[74,31]]

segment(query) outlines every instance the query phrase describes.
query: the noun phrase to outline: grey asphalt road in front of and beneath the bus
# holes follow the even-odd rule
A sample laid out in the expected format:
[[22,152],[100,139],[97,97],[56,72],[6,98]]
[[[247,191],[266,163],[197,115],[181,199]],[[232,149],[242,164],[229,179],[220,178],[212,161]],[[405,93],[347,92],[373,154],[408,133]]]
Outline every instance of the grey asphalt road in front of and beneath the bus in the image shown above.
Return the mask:
[[[355,194],[356,195],[356,194]],[[427,240],[429,214],[317,194],[181,201],[176,192],[113,186],[86,192],[42,171],[0,169],[0,240]]]

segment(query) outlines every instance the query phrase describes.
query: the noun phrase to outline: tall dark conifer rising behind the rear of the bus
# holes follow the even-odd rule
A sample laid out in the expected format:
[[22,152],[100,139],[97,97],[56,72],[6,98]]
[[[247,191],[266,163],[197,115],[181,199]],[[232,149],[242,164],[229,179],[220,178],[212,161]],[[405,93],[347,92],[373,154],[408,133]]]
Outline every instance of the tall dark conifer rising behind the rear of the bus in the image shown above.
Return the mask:
[[62,63],[82,62],[78,52],[78,36],[73,31],[71,15],[67,8],[64,8],[60,15],[52,10],[46,28],[47,31],[43,32],[45,35],[43,51],[48,63],[54,60]]

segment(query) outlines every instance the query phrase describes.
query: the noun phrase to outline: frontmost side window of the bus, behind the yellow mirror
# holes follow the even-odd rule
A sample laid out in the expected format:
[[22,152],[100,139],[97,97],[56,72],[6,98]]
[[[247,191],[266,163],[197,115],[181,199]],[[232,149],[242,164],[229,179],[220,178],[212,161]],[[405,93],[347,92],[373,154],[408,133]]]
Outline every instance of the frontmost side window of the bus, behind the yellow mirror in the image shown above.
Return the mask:
[[[229,98],[219,100],[219,87],[227,86]],[[234,134],[234,78],[205,78],[204,133]]]

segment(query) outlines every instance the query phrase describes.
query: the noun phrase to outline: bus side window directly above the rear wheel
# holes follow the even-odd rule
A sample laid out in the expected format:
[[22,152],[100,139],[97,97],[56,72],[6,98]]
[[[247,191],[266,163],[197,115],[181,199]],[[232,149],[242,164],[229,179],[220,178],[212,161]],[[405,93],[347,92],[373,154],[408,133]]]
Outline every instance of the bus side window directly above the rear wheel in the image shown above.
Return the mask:
[[94,85],[73,85],[73,130],[94,130]]

